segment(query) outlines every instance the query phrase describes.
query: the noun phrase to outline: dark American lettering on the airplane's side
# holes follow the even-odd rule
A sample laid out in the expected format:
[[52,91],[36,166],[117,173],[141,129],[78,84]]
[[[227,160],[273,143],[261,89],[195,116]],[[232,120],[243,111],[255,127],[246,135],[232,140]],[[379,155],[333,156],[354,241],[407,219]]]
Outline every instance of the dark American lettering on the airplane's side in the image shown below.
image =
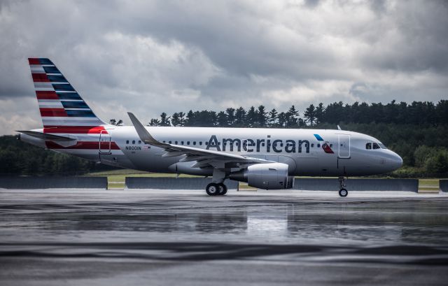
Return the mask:
[[223,138],[222,141],[218,141],[216,135],[212,135],[206,149],[210,150],[211,148],[217,151],[260,152],[260,149],[263,148],[266,149],[266,152],[309,153],[309,141],[274,140],[270,135],[266,139]]

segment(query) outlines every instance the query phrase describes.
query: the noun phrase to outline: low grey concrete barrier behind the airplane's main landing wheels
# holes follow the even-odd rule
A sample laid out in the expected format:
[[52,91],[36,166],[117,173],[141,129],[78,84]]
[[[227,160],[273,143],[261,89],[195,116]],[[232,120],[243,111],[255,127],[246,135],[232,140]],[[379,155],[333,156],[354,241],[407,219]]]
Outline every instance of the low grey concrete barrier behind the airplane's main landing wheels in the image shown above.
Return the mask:
[[[145,178],[126,177],[127,189],[205,190],[211,178]],[[228,190],[238,190],[238,182],[226,180]]]

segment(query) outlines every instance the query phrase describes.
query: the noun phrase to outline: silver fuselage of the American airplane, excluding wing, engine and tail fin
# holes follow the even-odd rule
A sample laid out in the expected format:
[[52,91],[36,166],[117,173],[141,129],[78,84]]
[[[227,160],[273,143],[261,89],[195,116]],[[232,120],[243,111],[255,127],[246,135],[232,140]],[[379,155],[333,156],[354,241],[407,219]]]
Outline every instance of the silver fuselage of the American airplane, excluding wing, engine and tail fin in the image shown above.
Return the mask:
[[[104,125],[104,129],[107,134],[70,134],[78,142],[90,142],[89,148],[49,148],[45,141],[25,134],[22,134],[22,140],[123,168],[200,176],[211,176],[213,173],[211,168],[192,167],[195,162],[179,162],[185,155],[162,157],[165,150],[142,143],[132,126]],[[291,176],[368,176],[388,173],[402,165],[401,157],[391,150],[366,148],[367,143],[379,143],[376,138],[352,131],[217,127],[146,129],[160,142],[285,163],[288,164]],[[327,152],[323,148],[324,144]]]

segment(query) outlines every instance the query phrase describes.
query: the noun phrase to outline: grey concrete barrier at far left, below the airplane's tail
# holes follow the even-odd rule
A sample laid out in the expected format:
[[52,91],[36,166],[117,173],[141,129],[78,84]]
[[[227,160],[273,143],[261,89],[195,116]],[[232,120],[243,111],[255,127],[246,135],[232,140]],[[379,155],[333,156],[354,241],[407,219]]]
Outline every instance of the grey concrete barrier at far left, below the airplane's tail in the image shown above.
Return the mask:
[[107,189],[107,177],[0,177],[3,189]]

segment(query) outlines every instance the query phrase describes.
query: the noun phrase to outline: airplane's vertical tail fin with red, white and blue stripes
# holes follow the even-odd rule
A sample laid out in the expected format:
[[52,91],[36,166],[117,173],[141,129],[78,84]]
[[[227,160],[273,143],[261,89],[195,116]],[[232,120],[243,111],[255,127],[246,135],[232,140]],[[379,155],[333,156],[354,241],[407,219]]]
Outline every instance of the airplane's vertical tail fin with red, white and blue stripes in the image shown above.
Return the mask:
[[43,127],[97,127],[105,124],[50,59],[28,59]]

